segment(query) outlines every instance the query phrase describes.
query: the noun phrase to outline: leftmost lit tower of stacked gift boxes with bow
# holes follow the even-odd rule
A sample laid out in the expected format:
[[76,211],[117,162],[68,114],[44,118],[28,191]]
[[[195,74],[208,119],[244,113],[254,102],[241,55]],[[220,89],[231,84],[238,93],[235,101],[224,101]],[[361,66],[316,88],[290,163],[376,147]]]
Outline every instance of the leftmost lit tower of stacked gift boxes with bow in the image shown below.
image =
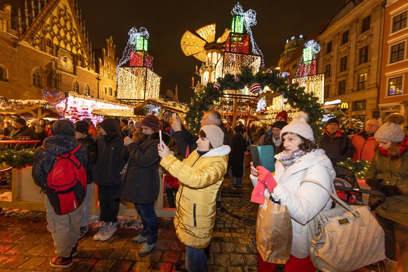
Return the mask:
[[158,98],[161,77],[153,72],[153,57],[147,52],[149,32],[133,27],[117,69],[119,100],[130,102]]

